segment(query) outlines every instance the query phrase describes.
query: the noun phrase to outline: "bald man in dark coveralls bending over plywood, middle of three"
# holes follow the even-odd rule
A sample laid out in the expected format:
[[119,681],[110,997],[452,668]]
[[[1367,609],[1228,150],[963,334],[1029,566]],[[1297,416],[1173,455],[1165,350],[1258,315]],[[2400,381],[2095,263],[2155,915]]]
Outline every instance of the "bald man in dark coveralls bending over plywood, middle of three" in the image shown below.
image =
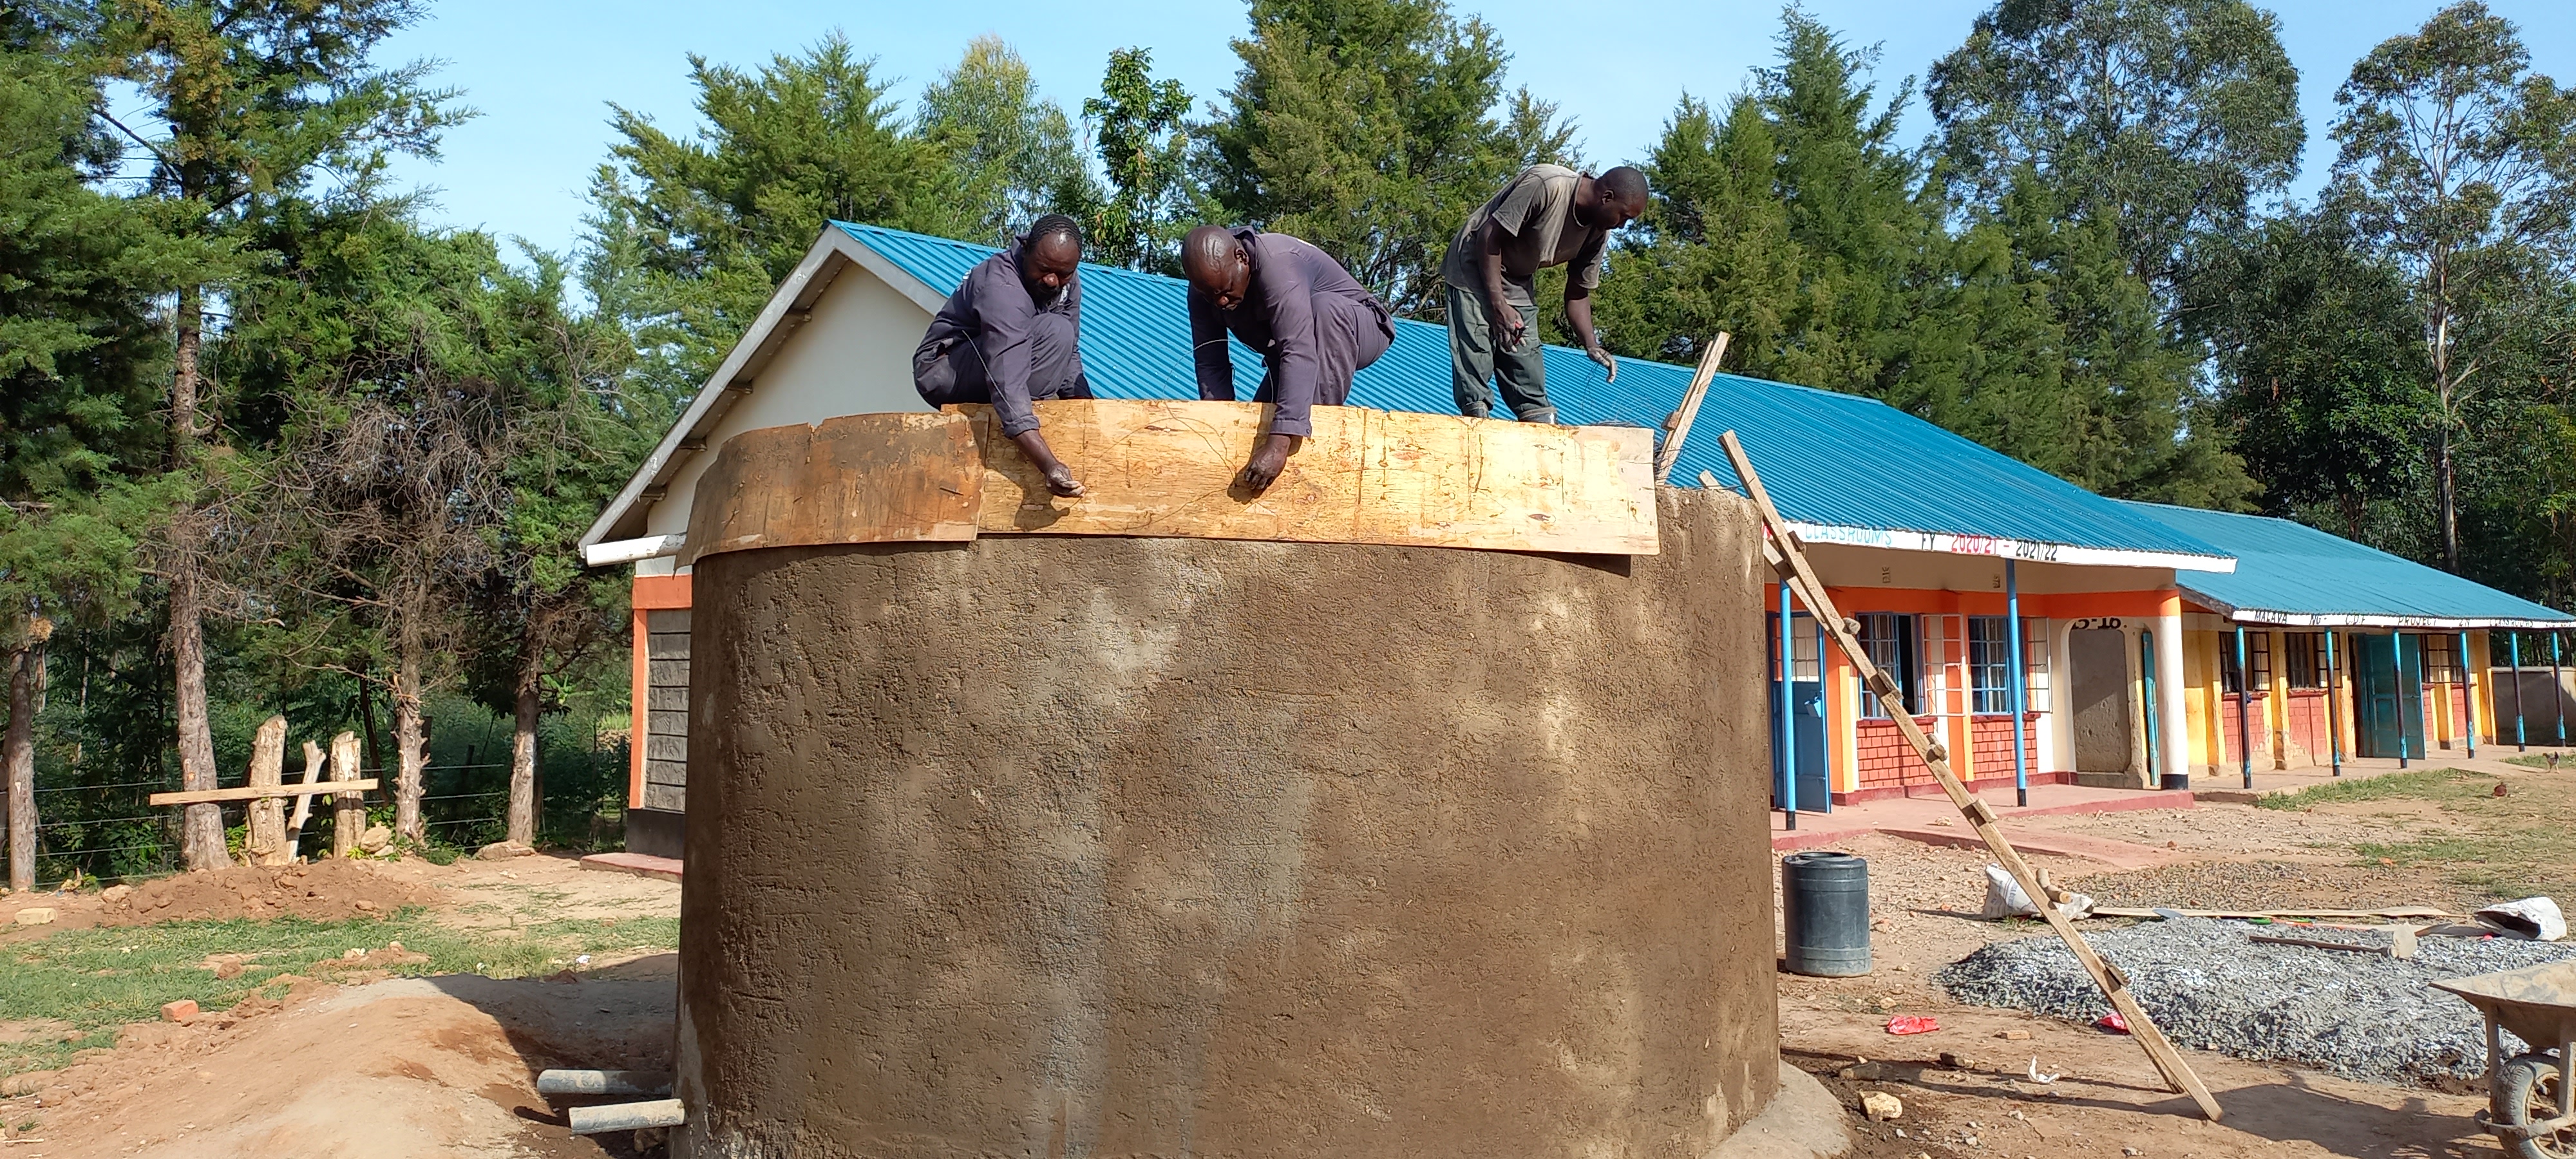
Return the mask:
[[1342,263],[1288,234],[1198,227],[1180,240],[1180,270],[1190,281],[1198,397],[1234,399],[1226,335],[1262,355],[1252,402],[1275,410],[1242,474],[1262,492],[1314,435],[1314,407],[1345,404],[1350,379],[1394,345],[1396,322]]

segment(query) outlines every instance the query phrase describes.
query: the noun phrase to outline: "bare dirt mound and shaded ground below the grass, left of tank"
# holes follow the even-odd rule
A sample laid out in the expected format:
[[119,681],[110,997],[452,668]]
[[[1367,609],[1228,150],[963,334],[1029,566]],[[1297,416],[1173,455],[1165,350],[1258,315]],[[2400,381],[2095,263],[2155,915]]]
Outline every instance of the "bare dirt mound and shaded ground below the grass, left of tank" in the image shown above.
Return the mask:
[[[28,1156],[598,1156],[536,1095],[546,1066],[670,1069],[672,956],[577,981],[296,986],[191,1025],[129,1025],[41,1089]],[[603,1146],[605,1144],[605,1146]]]

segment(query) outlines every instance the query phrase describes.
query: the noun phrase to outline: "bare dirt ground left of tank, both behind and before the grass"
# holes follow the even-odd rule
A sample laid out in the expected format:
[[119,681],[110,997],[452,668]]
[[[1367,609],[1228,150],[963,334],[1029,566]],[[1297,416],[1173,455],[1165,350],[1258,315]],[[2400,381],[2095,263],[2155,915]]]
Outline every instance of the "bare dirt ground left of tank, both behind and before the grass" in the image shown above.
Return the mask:
[[[433,917],[459,932],[505,935],[536,922],[677,917],[680,886],[580,871],[572,858],[502,863],[420,860],[309,865],[343,904],[394,907],[433,899]],[[294,871],[232,871],[165,886],[188,914],[258,917]],[[250,896],[206,881],[237,878]],[[149,912],[147,889],[142,899]],[[283,891],[301,896],[301,891]],[[234,899],[227,909],[222,899]],[[59,927],[15,927],[0,950],[52,930],[116,922],[88,896],[0,899],[49,904]],[[13,909],[0,904],[0,909]],[[157,912],[180,909],[178,904]],[[90,1048],[57,1071],[0,1079],[0,1156],[631,1156],[631,1136],[572,1136],[567,1100],[536,1095],[549,1066],[670,1069],[672,953],[598,953],[551,976],[389,976],[425,961],[399,948],[363,948],[327,961],[319,976],[281,976],[234,1007],[185,1025],[137,1022],[113,1048]],[[345,968],[337,968],[345,966]],[[270,997],[283,992],[283,997]],[[62,1022],[10,1022],[44,1035]],[[592,1100],[618,1102],[618,1100]]]

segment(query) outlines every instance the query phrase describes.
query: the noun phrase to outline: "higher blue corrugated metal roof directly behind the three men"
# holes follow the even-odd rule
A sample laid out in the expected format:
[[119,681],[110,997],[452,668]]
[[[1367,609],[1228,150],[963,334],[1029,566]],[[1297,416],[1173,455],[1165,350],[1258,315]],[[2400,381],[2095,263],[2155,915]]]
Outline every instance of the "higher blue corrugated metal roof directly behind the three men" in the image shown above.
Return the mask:
[[[966,270],[997,252],[943,237],[837,224],[940,294],[956,291]],[[1082,368],[1095,394],[1198,397],[1182,281],[1084,265],[1082,304]],[[1546,363],[1548,397],[1564,422],[1659,428],[1690,389],[1687,366],[1620,358],[1613,384],[1582,350],[1551,345]],[[1257,386],[1260,358],[1236,343],[1236,397],[1252,397]],[[1360,371],[1350,402],[1455,415],[1448,330],[1399,319],[1394,348]],[[1922,536],[1958,536],[1971,543],[1942,541],[1940,549],[2002,554],[2035,543],[2074,551],[2020,551],[2063,561],[2228,567],[2226,551],[1883,402],[1736,373],[1710,381],[1692,422],[1695,438],[1672,471],[1674,484],[1695,487],[1700,471],[1736,484],[1726,451],[1718,448],[1718,430],[1726,428],[1736,430],[1783,518],[1811,528],[1862,531],[1819,531],[1814,538],[1932,549]]]

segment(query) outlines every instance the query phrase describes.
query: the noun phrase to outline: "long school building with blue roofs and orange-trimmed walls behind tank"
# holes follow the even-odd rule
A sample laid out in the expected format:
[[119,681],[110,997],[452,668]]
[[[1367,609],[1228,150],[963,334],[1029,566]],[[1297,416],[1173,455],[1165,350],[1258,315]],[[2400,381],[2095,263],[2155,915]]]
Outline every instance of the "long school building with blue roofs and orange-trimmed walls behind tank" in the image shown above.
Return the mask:
[[[912,350],[966,270],[992,252],[899,229],[827,224],[670,435],[582,536],[592,567],[634,567],[631,850],[675,858],[685,827],[690,569],[677,567],[677,551],[711,451],[742,430],[927,410],[912,389]],[[1084,265],[1082,304],[1082,361],[1095,394],[1198,397],[1180,281]],[[1690,381],[1687,366],[1620,361],[1613,384],[1579,350],[1546,348],[1543,358],[1558,417],[1574,425],[1656,428]],[[1234,371],[1236,397],[1252,397],[1260,361],[1236,345]],[[1394,345],[1360,371],[1350,402],[1455,412],[1448,332],[1396,322]],[[2249,518],[2202,520],[2208,513],[2105,500],[1880,402],[1731,373],[1710,384],[1698,417],[1703,438],[1685,446],[1672,482],[1687,487],[1708,476],[1731,487],[1734,471],[1716,446],[1716,433],[1728,428],[1808,541],[1837,605],[1860,621],[1873,659],[1904,688],[1904,711],[1942,737],[1960,773],[1981,786],[2156,786],[2241,760],[2244,742],[2223,734],[2244,693],[2228,683],[2233,667],[2215,649],[2221,636],[2233,641],[2239,621],[2249,626],[2246,667],[2254,672],[2246,737],[2269,744],[2254,752],[2275,762],[2318,760],[2313,739],[2321,734],[2308,726],[2316,713],[2306,703],[2326,690],[2300,685],[2311,680],[2311,667],[2287,662],[2316,631],[2293,628],[2342,628],[2344,652],[2326,664],[2331,672],[2365,672],[2378,662],[2354,652],[2385,657],[2391,703],[2414,703],[2393,690],[2398,683],[2427,680],[2421,703],[2437,724],[2429,731],[2424,724],[2398,729],[2442,744],[2473,726],[2463,716],[2455,731],[2445,731],[2442,713],[2452,703],[2476,703],[2460,711],[2473,713],[2478,729],[2494,729],[2494,708],[2483,701],[2494,680],[2442,693],[2450,685],[2434,677],[2455,675],[2460,664],[2452,659],[2445,667],[2439,657],[2460,652],[2437,652],[2432,636],[2576,626],[2576,618],[2550,608],[2306,528],[2295,531],[2396,564],[2372,572],[2388,595],[2370,608],[2432,600],[2434,610],[2403,621],[2259,598],[2269,587],[2239,580],[2275,574],[2264,551],[2277,551],[2269,543],[2285,531],[2239,533],[2233,520]],[[2290,528],[2280,520],[2249,525]],[[2295,572],[2303,564],[2280,567]],[[1777,804],[1832,809],[1837,801],[1924,791],[1929,775],[1896,739],[1893,721],[1865,703],[1850,664],[1832,654],[1819,664],[1819,654],[1832,649],[1819,649],[1814,621],[1790,608],[1783,623],[1777,610],[1770,616],[1775,690],[1783,688],[1780,657],[1788,657],[1785,695],[1775,698],[1785,711],[1775,708],[1772,719]],[[2403,641],[2391,636],[2398,628]],[[2259,659],[2257,636],[2267,641]],[[2468,646],[2481,649],[2470,659],[2476,670],[2486,657],[2483,641]],[[2282,662],[2275,664],[2275,657]],[[2344,677],[2342,688],[2347,695],[2365,688],[2362,701],[2370,701],[2367,688],[2380,685]],[[2272,716],[2280,716],[2280,729],[2269,729]],[[2344,708],[2339,721],[2354,721],[2352,711]],[[2352,724],[2342,726],[2352,734]],[[2362,734],[2378,737],[2370,729],[2362,724]]]

